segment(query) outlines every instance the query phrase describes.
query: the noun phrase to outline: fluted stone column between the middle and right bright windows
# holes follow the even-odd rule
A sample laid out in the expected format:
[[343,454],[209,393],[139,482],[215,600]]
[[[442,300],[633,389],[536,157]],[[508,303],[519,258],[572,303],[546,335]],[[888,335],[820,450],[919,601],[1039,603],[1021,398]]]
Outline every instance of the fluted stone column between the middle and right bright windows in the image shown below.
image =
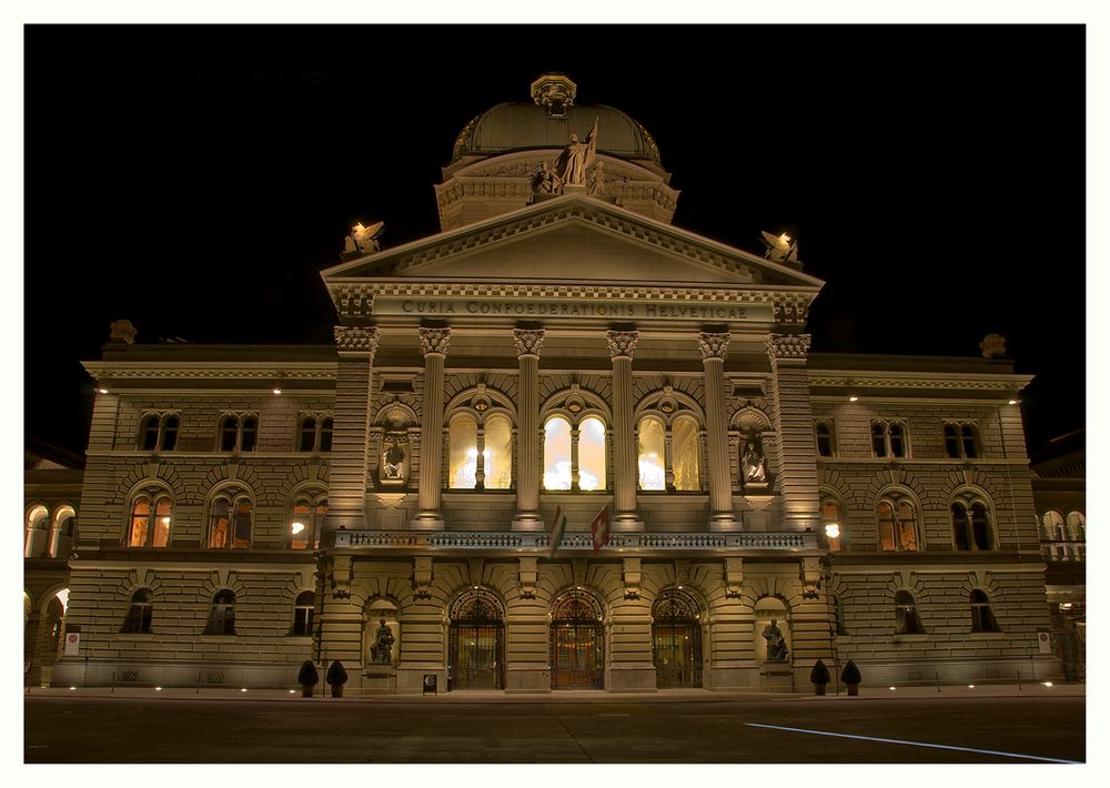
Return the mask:
[[632,354],[638,331],[608,332],[613,360],[613,531],[643,531],[636,516],[636,431],[633,424]]

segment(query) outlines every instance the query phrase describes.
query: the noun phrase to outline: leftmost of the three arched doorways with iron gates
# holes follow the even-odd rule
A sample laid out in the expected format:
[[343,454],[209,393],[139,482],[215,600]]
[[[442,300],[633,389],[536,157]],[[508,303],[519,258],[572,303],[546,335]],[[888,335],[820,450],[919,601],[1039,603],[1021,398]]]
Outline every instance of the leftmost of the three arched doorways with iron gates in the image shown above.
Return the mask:
[[485,588],[463,593],[451,606],[447,689],[505,687],[505,608]]

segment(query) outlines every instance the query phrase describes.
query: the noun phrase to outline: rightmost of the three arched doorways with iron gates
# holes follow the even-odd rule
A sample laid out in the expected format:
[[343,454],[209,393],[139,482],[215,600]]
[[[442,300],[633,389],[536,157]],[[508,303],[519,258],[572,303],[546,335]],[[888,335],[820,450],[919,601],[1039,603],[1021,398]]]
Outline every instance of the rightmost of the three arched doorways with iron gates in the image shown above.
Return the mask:
[[702,686],[702,613],[697,600],[680,589],[659,594],[652,606],[652,655],[655,686]]

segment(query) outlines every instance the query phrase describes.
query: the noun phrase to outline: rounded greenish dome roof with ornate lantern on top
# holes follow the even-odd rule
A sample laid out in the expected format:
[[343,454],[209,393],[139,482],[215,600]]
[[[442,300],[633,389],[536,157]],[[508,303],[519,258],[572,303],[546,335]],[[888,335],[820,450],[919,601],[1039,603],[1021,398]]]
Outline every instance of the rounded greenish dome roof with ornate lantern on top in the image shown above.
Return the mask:
[[597,119],[597,150],[622,159],[659,164],[659,149],[643,125],[604,104],[575,104],[574,82],[544,74],[532,84],[533,103],[497,104],[466,124],[455,140],[452,160],[466,154],[491,155],[529,148],[563,148],[582,140]]

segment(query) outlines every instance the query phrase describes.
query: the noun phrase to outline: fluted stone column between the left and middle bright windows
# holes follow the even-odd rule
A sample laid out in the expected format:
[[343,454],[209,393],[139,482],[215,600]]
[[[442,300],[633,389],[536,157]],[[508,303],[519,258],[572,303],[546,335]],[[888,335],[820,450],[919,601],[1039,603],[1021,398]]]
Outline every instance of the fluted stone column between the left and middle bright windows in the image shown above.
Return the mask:
[[539,348],[547,332],[515,329],[519,380],[516,385],[516,517],[513,531],[543,531],[539,516]]

